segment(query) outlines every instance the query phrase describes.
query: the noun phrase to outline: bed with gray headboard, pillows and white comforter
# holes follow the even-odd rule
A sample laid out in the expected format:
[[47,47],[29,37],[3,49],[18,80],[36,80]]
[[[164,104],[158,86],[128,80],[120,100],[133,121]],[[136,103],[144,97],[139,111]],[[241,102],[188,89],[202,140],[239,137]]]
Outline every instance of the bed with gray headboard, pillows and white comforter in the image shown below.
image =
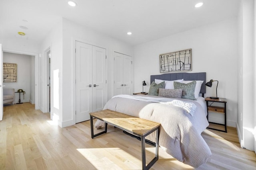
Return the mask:
[[[165,81],[163,82],[163,80]],[[173,80],[180,81],[173,82]],[[195,86],[199,84],[198,82],[202,86],[200,85],[199,90],[197,90],[198,96],[194,100],[176,98],[176,96],[175,98],[169,98],[151,95],[118,95],[110,99],[104,109],[161,123],[159,146],[180,162],[197,168],[212,156],[210,148],[201,136],[202,131],[209,125],[206,119],[206,103],[203,98],[204,93],[206,93],[206,87],[204,86],[206,73],[179,72],[151,75],[151,86],[156,81],[159,81],[156,86],[165,84],[164,88],[158,89],[158,95],[160,95],[160,90],[175,91],[168,90],[166,86],[168,83],[174,84],[175,88],[181,85],[185,87],[193,86],[195,89]],[[168,85],[168,87],[170,86]],[[184,95],[184,91],[186,90],[183,90],[182,95]],[[99,120],[95,123],[97,128],[103,125],[104,123]],[[146,139],[155,142],[155,134],[148,135]]]

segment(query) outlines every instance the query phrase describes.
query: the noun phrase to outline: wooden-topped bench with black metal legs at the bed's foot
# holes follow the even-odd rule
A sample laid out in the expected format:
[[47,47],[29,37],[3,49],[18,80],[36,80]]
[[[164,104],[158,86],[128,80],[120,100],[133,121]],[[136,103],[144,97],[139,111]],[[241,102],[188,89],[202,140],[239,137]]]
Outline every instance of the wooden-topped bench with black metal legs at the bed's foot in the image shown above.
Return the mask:
[[[94,135],[93,132],[93,117],[100,119],[105,123],[104,131]],[[90,113],[90,123],[91,123],[91,136],[92,139],[104,133],[107,133],[108,124],[118,127],[124,131],[128,131],[134,135],[137,135],[141,139],[141,150],[142,150],[142,169],[148,170],[157,160],[159,154],[159,129],[160,123],[154,121],[149,121],[146,119],[141,119],[139,117],[134,117],[126,115],[112,110],[102,110]],[[146,166],[146,152],[145,152],[145,137],[150,133],[156,131],[156,155]]]

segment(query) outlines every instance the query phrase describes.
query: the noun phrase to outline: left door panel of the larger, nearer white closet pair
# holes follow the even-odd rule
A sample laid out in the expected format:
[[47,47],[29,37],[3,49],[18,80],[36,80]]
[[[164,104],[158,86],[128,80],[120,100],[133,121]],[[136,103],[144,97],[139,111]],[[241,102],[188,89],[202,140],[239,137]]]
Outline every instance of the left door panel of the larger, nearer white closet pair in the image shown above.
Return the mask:
[[76,42],[76,123],[90,119],[92,88],[92,45]]

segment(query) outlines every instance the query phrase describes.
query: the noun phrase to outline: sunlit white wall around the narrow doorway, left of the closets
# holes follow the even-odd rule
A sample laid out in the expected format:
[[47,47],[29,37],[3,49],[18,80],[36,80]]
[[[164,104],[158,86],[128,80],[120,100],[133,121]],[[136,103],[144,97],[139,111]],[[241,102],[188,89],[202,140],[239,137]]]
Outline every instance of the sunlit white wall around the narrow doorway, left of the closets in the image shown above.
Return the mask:
[[56,21],[56,25],[48,33],[48,36],[40,45],[39,55],[39,105],[40,110],[46,112],[46,49],[51,48],[51,119],[62,124],[62,19]]

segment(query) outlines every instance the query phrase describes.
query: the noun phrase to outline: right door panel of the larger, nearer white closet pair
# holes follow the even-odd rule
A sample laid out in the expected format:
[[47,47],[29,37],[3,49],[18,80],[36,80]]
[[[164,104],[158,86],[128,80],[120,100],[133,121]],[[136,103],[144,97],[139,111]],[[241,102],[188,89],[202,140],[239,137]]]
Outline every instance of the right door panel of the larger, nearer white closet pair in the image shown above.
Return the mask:
[[106,49],[92,46],[92,110],[106,104]]

